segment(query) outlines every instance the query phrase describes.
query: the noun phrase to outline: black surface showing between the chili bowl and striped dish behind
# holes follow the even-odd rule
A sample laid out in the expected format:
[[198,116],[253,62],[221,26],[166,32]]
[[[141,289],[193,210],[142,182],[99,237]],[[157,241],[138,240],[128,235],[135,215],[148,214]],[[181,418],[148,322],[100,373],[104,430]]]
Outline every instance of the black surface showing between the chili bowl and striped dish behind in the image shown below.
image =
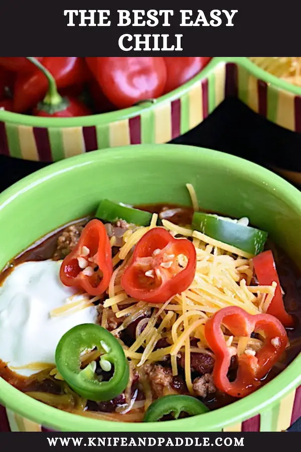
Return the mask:
[[[267,166],[301,168],[301,134],[286,131],[249,110],[237,99],[227,99],[194,130],[172,143],[212,148]],[[0,156],[0,191],[46,166]],[[290,429],[301,431],[301,419]]]

